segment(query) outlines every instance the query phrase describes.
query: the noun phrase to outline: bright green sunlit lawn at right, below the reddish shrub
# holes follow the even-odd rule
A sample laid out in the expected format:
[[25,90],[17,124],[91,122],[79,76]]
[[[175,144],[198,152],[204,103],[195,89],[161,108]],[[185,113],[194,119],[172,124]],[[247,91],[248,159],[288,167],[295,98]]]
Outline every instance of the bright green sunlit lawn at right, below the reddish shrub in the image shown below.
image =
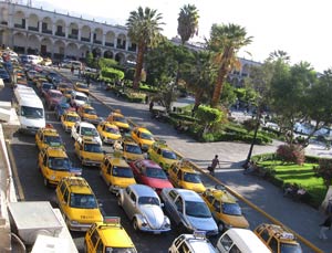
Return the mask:
[[258,165],[273,171],[272,177],[277,180],[298,183],[310,194],[309,203],[319,207],[325,198],[328,188],[322,178],[315,176],[313,166],[317,164],[304,164],[298,166],[294,164],[282,164],[280,160],[260,161]]

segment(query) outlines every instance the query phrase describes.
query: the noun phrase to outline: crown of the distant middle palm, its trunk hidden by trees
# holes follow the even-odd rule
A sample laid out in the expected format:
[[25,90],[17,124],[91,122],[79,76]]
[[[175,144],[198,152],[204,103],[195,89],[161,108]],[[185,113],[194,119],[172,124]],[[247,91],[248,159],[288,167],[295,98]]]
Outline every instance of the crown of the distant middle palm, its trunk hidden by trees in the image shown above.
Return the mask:
[[177,33],[181,38],[183,45],[198,33],[198,10],[194,4],[185,4],[178,15]]

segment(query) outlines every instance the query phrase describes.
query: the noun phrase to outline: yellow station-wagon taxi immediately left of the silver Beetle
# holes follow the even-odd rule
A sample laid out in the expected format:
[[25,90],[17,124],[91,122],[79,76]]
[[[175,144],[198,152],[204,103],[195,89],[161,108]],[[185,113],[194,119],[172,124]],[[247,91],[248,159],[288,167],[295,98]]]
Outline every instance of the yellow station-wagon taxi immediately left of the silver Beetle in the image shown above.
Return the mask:
[[100,204],[84,178],[62,178],[55,197],[64,221],[71,231],[87,231],[95,222],[102,222]]

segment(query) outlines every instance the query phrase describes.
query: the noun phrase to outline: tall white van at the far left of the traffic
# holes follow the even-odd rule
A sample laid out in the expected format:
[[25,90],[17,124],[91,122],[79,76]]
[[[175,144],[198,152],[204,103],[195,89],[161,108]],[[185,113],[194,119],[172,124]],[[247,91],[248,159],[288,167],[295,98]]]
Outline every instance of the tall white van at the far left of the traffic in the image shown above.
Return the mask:
[[33,88],[25,85],[17,85],[13,106],[21,124],[21,131],[35,134],[38,129],[45,127],[44,106]]

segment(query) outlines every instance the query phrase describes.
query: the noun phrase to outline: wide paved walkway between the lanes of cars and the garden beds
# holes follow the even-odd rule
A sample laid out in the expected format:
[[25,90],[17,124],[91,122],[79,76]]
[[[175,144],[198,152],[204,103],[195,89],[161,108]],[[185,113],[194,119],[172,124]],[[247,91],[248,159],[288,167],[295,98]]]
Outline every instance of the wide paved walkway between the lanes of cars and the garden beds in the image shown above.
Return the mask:
[[[132,118],[138,125],[148,127],[156,136],[165,139],[170,147],[201,168],[206,168],[210,164],[214,155],[218,154],[221,169],[216,171],[216,178],[299,233],[323,252],[329,253],[332,251],[331,231],[328,231],[328,241],[321,241],[318,238],[319,224],[324,220],[324,217],[318,210],[283,198],[281,190],[268,181],[242,173],[240,165],[247,157],[249,150],[248,144],[197,144],[196,140],[187,136],[178,135],[169,125],[152,119],[148,105],[127,103],[126,101],[113,96],[111,92],[105,92],[98,85],[91,85],[91,92],[94,97],[104,104],[112,108],[120,108],[124,115]],[[255,146],[252,155],[272,152],[279,144],[280,143],[274,141],[270,146]],[[324,150],[324,148],[320,146],[309,147],[307,154],[321,156],[332,155],[331,150]],[[214,185],[208,177],[203,177],[203,180],[205,183]],[[243,207],[243,210],[248,214],[255,212],[248,207]],[[259,222],[261,222],[261,220],[250,220],[250,228],[255,229]],[[303,244],[302,247],[303,252],[313,252]]]

